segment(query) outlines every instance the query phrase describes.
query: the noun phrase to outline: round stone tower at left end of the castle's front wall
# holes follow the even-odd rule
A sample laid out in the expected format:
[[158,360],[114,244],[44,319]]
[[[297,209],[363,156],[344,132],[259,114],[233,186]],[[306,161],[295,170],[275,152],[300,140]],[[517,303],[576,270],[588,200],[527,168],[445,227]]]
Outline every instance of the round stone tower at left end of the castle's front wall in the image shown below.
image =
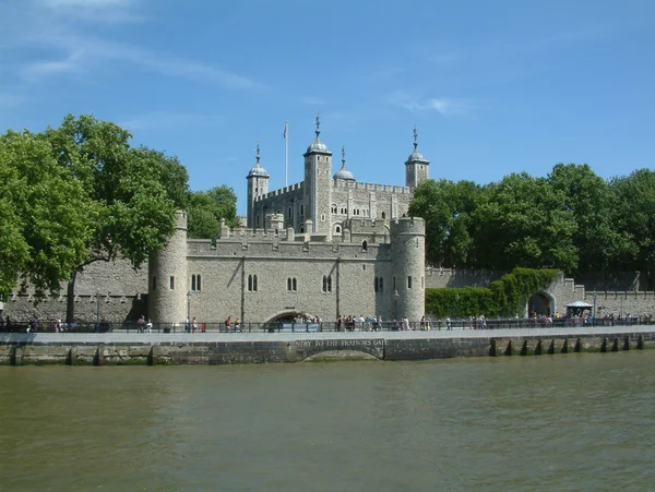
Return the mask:
[[187,319],[187,214],[175,214],[174,235],[148,260],[147,310],[153,323],[183,323]]

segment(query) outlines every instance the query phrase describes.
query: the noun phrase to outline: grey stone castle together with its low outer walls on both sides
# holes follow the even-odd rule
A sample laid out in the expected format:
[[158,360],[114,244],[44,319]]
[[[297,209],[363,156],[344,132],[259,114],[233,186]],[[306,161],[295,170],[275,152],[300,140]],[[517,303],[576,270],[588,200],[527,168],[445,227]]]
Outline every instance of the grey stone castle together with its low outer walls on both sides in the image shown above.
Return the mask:
[[[134,271],[126,261],[99,262],[78,275],[76,317],[116,323],[144,314],[154,323],[183,323],[188,316],[222,323],[231,316],[260,323],[308,315],[325,321],[429,315],[426,288],[481,287],[500,273],[426,267],[424,220],[407,217],[414,188],[429,178],[430,163],[417,146],[415,129],[405,185],[356,181],[343,148],[333,175],[317,117],[315,140],[303,154],[305,180],[269,191],[258,145],[240,227],[230,230],[222,223],[216,238],[188,239],[187,216],[178,212],[176,232],[147,266]],[[593,302],[598,315],[655,312],[655,295],[630,278],[614,289],[598,285],[592,291],[562,275],[535,292],[521,314],[564,313],[580,300]],[[26,320],[36,312],[53,320],[66,311],[63,293],[36,307],[33,301],[29,291],[16,292],[4,303],[5,314]]]

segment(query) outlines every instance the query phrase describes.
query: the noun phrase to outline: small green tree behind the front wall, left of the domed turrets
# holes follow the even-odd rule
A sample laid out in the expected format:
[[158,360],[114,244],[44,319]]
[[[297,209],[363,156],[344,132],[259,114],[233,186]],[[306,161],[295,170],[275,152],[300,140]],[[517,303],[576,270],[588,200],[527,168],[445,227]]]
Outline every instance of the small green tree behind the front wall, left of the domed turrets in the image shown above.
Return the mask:
[[190,192],[187,206],[188,235],[194,239],[215,238],[225,219],[228,227],[237,226],[237,195],[224,185],[207,191]]

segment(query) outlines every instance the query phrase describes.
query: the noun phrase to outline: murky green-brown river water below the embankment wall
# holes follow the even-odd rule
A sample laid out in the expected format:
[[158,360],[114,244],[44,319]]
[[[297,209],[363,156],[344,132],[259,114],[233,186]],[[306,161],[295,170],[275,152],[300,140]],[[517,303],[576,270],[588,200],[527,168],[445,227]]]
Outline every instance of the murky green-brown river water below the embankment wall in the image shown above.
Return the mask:
[[0,368],[0,491],[655,488],[655,350]]

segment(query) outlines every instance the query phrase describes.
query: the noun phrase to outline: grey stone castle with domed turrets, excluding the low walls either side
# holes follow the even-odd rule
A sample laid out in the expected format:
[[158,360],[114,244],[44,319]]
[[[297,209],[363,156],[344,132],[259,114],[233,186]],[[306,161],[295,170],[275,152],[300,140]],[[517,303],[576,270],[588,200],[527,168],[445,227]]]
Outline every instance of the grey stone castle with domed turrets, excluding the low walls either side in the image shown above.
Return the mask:
[[425,314],[425,224],[406,217],[414,187],[428,179],[417,151],[404,187],[358,182],[320,140],[307,147],[305,181],[269,192],[257,163],[247,176],[246,227],[222,224],[215,244],[189,240],[186,216],[167,248],[148,263],[148,315],[154,323],[233,319],[262,322],[319,315]]

